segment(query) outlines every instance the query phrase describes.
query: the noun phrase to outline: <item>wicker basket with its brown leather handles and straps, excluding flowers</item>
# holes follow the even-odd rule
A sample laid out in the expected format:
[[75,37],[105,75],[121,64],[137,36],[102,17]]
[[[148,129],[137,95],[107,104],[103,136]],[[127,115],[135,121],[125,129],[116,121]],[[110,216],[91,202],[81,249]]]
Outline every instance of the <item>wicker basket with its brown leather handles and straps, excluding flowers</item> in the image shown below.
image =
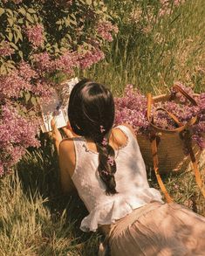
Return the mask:
[[[176,92],[183,94],[193,105],[197,106],[194,98],[186,93],[180,86],[174,86]],[[182,170],[192,169],[195,173],[195,182],[205,197],[205,187],[202,182],[201,173],[199,170],[199,162],[201,158],[201,165],[204,163],[204,151],[191,140],[190,128],[197,121],[197,117],[193,117],[186,124],[182,124],[177,117],[169,113],[163,107],[157,110],[165,111],[177,124],[178,128],[172,130],[159,128],[154,124],[154,116],[151,116],[152,104],[158,101],[173,100],[173,95],[160,95],[152,98],[151,93],[147,94],[147,119],[152,127],[149,139],[145,135],[138,135],[138,142],[140,145],[141,154],[147,166],[153,167],[157,181],[164,193],[167,203],[173,202],[173,198],[167,192],[166,186],[161,179],[161,173],[170,171],[179,172]],[[184,143],[188,148],[188,156],[184,155]],[[201,157],[202,156],[202,157]]]

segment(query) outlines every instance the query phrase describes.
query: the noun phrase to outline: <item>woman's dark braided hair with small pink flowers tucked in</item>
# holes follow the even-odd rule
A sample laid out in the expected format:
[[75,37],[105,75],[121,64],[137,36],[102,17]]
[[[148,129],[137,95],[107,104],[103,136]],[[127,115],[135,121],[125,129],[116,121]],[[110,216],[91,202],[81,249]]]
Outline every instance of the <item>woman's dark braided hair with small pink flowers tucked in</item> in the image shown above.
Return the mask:
[[72,89],[68,118],[77,135],[92,139],[99,152],[99,176],[106,184],[106,194],[115,194],[114,150],[109,145],[113,128],[114,101],[109,89],[91,80],[81,80]]

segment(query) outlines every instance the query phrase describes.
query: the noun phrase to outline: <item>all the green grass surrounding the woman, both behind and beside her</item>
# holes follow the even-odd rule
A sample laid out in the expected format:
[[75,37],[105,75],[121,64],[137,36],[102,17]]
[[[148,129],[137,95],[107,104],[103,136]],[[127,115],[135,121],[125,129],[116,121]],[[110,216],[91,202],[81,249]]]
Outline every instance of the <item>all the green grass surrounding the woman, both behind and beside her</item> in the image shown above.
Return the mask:
[[[203,0],[188,0],[163,17],[156,0],[105,2],[119,34],[106,59],[79,75],[105,83],[115,95],[127,83],[144,93],[167,92],[176,80],[205,91]],[[41,141],[40,149],[29,149],[14,173],[0,180],[0,255],[97,255],[101,235],[79,231],[85,207],[77,195],[62,195],[55,149],[46,135]],[[154,175],[147,176],[158,188]],[[192,172],[163,179],[176,202],[205,215]]]

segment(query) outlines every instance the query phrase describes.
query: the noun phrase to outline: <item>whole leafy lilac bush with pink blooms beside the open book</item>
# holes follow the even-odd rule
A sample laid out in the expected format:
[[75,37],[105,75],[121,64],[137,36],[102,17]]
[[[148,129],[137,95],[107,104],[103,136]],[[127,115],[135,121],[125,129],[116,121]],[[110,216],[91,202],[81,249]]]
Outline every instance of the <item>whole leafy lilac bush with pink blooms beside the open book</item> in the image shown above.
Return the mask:
[[39,146],[38,103],[60,78],[104,58],[117,28],[103,1],[0,2],[0,176]]

